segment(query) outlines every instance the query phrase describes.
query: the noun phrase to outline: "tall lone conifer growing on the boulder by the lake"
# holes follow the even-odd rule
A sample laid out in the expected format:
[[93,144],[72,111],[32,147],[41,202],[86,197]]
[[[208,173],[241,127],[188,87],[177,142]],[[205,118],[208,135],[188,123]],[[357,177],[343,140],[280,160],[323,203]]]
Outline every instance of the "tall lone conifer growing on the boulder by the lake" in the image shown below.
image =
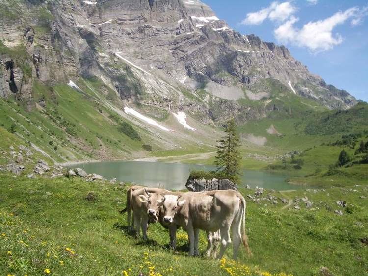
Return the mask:
[[218,142],[217,155],[214,164],[217,171],[229,178],[234,183],[240,182],[240,151],[239,136],[236,133],[236,125],[234,119],[230,120],[225,129],[226,135]]

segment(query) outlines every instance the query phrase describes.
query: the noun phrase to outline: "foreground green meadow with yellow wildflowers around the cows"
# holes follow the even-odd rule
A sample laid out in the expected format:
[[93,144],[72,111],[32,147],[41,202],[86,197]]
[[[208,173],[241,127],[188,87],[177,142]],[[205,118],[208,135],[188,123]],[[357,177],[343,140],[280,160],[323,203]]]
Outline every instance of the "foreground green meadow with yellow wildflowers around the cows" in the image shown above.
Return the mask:
[[[253,256],[241,249],[233,262],[230,249],[221,261],[188,257],[183,230],[175,252],[159,224],[149,227],[148,242],[131,236],[126,216],[118,213],[125,206],[126,185],[4,173],[0,182],[1,275],[328,275],[321,267],[333,275],[368,275],[367,185],[261,196],[289,204],[257,204],[247,198],[254,190],[241,191]],[[347,202],[345,208],[336,204],[340,200]],[[298,201],[300,210],[294,209]],[[201,233],[200,251],[205,247]]]

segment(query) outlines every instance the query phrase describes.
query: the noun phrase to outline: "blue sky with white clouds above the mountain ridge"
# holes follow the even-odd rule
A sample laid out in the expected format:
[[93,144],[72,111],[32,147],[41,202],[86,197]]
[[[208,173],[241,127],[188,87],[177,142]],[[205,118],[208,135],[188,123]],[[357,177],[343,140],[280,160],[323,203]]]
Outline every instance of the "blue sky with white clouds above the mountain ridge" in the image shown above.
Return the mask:
[[368,102],[368,0],[202,0],[242,34],[288,47],[329,84]]

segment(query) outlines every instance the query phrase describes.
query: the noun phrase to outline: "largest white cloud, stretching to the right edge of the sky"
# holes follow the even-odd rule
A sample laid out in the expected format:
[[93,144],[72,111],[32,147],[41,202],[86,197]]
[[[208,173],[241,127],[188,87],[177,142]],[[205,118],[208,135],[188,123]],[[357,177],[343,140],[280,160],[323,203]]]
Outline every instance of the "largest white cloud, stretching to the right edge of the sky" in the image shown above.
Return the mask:
[[292,16],[274,30],[274,35],[280,42],[307,47],[313,52],[330,50],[343,41],[341,35],[333,33],[333,29],[350,19],[352,25],[357,25],[367,12],[366,8],[360,10],[358,7],[353,7],[344,12],[339,11],[323,20],[308,22],[301,29],[294,26],[299,19]]

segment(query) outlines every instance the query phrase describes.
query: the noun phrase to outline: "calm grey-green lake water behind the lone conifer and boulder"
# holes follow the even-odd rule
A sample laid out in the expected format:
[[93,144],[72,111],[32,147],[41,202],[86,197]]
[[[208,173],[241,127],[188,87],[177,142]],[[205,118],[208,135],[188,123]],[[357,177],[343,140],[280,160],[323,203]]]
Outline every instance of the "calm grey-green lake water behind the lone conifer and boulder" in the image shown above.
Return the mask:
[[[143,161],[103,161],[83,163],[71,166],[83,168],[87,173],[96,173],[106,179],[133,182],[149,187],[161,187],[168,190],[185,189],[190,170],[213,170],[213,166],[182,163],[143,162]],[[292,190],[301,186],[288,184],[287,175],[272,174],[263,171],[244,170],[242,186],[263,187],[274,190]],[[304,187],[305,188],[305,187]]]

